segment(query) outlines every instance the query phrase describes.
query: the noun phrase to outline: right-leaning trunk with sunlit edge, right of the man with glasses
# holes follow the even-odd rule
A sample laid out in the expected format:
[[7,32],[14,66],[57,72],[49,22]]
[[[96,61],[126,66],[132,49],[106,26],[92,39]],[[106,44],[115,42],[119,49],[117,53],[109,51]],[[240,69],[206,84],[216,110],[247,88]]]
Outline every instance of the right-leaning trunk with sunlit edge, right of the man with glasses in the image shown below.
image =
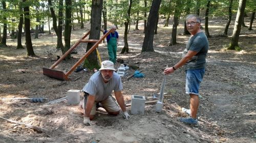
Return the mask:
[[244,17],[245,6],[246,6],[246,0],[239,0],[237,17],[234,23],[234,30],[233,30],[229,47],[228,47],[228,49],[230,50],[234,50],[236,49],[236,47],[239,47],[238,41],[239,41],[239,35],[241,32],[241,25]]

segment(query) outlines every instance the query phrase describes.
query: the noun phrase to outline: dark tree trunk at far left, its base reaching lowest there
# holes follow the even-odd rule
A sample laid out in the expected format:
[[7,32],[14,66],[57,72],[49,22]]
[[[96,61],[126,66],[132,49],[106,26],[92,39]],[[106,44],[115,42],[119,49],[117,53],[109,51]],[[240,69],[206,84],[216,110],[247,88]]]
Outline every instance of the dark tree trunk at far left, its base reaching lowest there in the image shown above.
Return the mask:
[[[23,2],[26,3],[26,0],[23,0]],[[35,56],[32,41],[31,41],[31,35],[30,35],[30,14],[29,14],[29,6],[25,5],[24,9],[24,17],[25,17],[25,34],[26,34],[26,47],[27,47],[27,55],[28,56]]]

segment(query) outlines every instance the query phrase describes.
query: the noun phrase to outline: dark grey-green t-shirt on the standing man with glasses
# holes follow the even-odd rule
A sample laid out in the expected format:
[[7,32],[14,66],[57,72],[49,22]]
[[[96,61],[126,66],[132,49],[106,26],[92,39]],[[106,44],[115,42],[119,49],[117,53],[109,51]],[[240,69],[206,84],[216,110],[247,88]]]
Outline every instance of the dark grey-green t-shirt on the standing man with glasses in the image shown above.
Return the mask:
[[203,32],[197,33],[196,35],[190,37],[186,48],[182,53],[182,57],[187,54],[188,50],[196,51],[198,53],[185,64],[185,69],[189,70],[205,68],[208,48],[209,43],[206,35]]

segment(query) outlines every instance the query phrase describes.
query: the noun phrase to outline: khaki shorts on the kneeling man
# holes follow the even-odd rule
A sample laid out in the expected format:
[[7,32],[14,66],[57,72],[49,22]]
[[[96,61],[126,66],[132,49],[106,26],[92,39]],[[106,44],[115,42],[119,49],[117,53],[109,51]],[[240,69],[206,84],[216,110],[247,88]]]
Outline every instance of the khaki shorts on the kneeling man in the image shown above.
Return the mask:
[[[109,96],[109,98],[107,98],[106,100],[100,101],[99,103],[101,103],[102,107],[107,112],[116,112],[120,110],[119,106],[116,104],[112,96]],[[90,115],[96,114],[96,104],[97,102],[94,102]]]

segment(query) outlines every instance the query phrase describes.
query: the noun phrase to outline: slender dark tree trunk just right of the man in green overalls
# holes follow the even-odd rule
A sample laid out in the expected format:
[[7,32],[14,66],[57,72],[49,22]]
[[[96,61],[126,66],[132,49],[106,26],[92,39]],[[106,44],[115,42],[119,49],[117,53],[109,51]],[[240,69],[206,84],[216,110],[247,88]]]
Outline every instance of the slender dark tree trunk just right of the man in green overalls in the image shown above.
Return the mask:
[[124,46],[122,48],[121,53],[129,53],[129,45],[128,45],[128,40],[127,40],[127,35],[128,35],[128,26],[130,23],[130,17],[131,17],[131,9],[132,9],[132,4],[133,4],[133,0],[130,0],[129,2],[129,7],[127,9],[127,14],[126,14],[126,20],[124,22],[124,36],[123,36],[123,41],[124,41]]

